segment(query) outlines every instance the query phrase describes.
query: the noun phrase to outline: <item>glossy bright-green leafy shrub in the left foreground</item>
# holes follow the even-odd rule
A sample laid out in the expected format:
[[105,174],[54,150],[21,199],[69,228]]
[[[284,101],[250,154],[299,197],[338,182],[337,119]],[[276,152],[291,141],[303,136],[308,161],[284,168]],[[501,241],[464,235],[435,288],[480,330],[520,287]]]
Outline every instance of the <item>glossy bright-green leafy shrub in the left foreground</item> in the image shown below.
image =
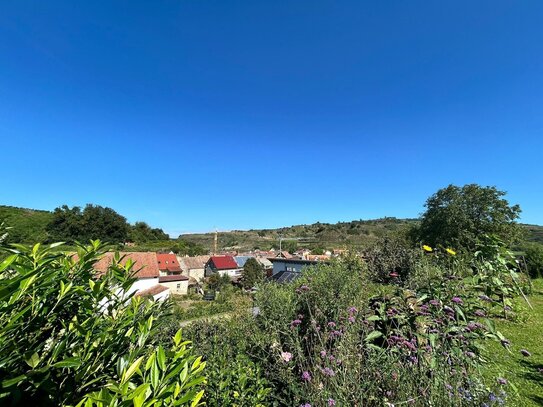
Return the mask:
[[133,264],[103,275],[98,241],[77,255],[55,245],[1,247],[0,403],[40,406],[196,405],[204,367],[179,331],[155,347],[169,304],[134,297]]

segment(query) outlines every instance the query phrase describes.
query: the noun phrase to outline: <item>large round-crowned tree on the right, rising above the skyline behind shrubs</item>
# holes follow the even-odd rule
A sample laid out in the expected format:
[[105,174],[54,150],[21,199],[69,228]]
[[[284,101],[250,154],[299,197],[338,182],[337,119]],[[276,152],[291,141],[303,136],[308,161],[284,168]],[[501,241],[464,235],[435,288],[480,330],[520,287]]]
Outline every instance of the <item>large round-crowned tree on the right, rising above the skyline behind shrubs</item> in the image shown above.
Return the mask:
[[473,251],[484,235],[495,235],[506,244],[516,241],[520,227],[515,223],[518,205],[509,205],[505,192],[477,184],[440,189],[426,201],[419,239],[424,244],[439,244]]

